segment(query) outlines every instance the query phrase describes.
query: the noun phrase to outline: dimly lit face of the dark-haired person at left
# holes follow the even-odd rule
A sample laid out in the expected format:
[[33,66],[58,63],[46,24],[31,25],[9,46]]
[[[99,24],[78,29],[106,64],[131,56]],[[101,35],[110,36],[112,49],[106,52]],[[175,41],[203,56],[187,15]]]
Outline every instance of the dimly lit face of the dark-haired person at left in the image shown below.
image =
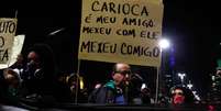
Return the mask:
[[35,52],[30,52],[27,55],[27,63],[33,68],[40,68],[40,57]]

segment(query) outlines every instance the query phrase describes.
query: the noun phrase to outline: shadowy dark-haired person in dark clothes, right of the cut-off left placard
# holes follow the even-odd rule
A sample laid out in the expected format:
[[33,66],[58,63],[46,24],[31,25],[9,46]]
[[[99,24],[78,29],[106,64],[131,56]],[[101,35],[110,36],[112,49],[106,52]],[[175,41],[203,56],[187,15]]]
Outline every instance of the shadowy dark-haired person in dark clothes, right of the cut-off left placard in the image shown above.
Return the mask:
[[46,44],[35,44],[27,52],[27,62],[21,75],[25,98],[44,99],[54,95],[55,62],[52,48]]

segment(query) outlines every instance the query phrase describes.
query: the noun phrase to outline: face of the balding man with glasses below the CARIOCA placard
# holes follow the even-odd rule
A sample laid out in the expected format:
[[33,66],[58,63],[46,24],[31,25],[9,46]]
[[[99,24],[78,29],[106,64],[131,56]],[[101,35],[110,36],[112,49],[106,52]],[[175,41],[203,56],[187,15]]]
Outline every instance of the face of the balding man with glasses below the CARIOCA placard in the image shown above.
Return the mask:
[[114,82],[117,86],[123,84],[130,75],[130,66],[128,64],[117,64],[115,66],[115,73],[112,76]]

